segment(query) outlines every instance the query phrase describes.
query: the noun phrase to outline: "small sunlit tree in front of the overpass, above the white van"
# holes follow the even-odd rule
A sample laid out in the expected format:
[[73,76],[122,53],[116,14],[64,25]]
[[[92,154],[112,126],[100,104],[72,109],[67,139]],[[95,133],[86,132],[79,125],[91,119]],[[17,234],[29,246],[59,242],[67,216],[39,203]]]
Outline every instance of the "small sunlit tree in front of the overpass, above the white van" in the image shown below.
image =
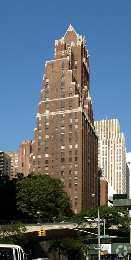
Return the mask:
[[11,224],[0,227],[0,244],[21,244],[26,243],[26,227],[21,222],[11,222]]

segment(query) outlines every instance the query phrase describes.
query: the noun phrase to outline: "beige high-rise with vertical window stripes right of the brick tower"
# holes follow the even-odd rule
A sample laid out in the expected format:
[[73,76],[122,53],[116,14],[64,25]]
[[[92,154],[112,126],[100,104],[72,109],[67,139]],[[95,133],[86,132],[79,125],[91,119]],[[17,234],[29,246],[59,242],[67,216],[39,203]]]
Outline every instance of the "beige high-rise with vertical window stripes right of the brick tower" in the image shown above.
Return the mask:
[[98,166],[107,166],[102,171],[113,189],[126,193],[126,148],[125,137],[120,132],[117,119],[94,122],[98,133]]

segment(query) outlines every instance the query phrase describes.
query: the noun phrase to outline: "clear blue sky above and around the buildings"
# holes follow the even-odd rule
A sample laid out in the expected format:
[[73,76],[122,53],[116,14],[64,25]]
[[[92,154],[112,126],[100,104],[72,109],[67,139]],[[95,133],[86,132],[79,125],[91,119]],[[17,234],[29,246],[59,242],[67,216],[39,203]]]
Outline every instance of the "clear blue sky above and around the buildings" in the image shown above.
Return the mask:
[[34,140],[45,62],[69,23],[85,35],[94,120],[117,118],[131,152],[131,1],[0,2],[0,150]]

